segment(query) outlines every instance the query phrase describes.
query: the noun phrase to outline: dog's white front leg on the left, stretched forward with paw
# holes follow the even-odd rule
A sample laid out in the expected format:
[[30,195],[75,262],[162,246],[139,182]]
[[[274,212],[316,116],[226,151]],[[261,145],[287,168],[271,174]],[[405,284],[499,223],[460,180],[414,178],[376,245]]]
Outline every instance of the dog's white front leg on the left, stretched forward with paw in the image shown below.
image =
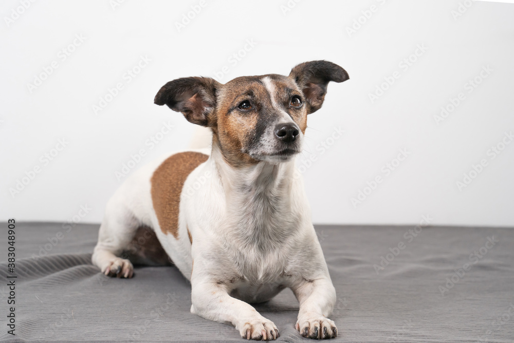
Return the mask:
[[198,269],[194,263],[192,313],[209,320],[231,323],[246,339],[273,340],[279,337],[279,330],[272,321],[261,316],[250,304],[231,297],[223,283],[205,280],[208,274],[198,273]]

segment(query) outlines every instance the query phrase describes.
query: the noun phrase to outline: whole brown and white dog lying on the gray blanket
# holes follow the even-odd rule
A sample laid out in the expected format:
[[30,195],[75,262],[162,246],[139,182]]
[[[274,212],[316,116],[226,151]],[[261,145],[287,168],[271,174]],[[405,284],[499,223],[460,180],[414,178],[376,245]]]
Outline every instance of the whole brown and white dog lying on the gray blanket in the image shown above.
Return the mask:
[[249,303],[289,287],[300,302],[300,334],[336,337],[327,318],[336,291],[293,157],[328,82],[346,80],[340,66],[312,61],[289,76],[226,84],[190,77],[162,86],[155,103],[210,128],[212,150],[175,153],[127,178],[107,204],[93,263],[131,278],[133,265],[120,256],[147,228],[143,241],[153,248],[145,251],[154,254],[146,258],[169,256],[191,281],[192,313],[232,323],[247,339],[276,339],[275,324]]

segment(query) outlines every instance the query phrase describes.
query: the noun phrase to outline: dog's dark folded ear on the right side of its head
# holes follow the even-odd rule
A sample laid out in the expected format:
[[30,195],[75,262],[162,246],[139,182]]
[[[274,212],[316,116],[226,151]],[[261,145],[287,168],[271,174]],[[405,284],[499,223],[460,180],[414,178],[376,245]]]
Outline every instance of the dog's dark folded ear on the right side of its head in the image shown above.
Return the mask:
[[310,61],[299,64],[291,69],[289,77],[302,89],[308,104],[307,114],[321,108],[328,82],[343,82],[350,79],[346,70],[328,61]]

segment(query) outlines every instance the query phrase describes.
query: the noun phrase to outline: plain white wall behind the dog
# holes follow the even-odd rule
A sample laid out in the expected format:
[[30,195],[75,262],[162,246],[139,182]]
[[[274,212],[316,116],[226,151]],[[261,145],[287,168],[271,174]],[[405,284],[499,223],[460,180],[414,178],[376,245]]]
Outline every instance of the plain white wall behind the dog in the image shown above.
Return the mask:
[[[6,21],[22,2],[5,0],[1,9],[0,220],[66,221],[83,206],[90,210],[82,220],[99,222],[120,184],[115,172],[131,154],[145,150],[141,166],[189,145],[194,125],[153,104],[167,81],[213,76],[225,65],[223,82],[287,75],[297,63],[326,59],[351,80],[330,84],[323,108],[309,116],[299,163],[316,158],[304,172],[315,223],[416,224],[428,215],[439,225],[514,226],[514,144],[495,158],[488,154],[514,130],[514,5],[205,0],[179,32],[175,23],[199,1],[132,0],[114,9],[114,0],[36,1]],[[296,5],[284,14],[288,4]],[[371,6],[375,12],[367,12]],[[348,34],[359,18],[364,24]],[[74,40],[80,45],[64,60],[60,51]],[[233,65],[229,58],[247,40],[255,46]],[[417,46],[427,50],[412,57]],[[150,62],[128,82],[124,73],[141,56]],[[399,63],[410,56],[416,61],[406,70]],[[58,68],[30,92],[28,84],[52,61]],[[487,78],[469,88],[468,80],[480,79],[487,66]],[[395,71],[399,78],[372,103],[370,93]],[[92,106],[118,82],[123,89],[95,115]],[[464,100],[436,123],[440,108],[459,93]],[[163,122],[174,128],[152,148],[145,141]],[[335,128],[344,134],[332,140]],[[66,147],[46,164],[40,156],[60,139]],[[317,149],[322,142],[331,144],[328,150]],[[401,149],[408,157],[386,174],[382,167]],[[458,189],[482,159],[487,166]],[[17,180],[38,166],[11,195]],[[376,176],[382,183],[353,206],[351,198]]]

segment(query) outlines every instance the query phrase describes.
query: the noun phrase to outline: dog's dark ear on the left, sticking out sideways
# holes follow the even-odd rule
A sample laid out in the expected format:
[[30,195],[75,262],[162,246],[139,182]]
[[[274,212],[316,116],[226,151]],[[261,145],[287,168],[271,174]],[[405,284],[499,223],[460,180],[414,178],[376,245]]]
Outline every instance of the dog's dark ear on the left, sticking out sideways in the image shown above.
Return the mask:
[[205,127],[212,124],[211,114],[216,107],[216,89],[221,83],[211,78],[181,78],[163,85],[154,103],[168,105],[170,109],[182,112],[186,119]]

